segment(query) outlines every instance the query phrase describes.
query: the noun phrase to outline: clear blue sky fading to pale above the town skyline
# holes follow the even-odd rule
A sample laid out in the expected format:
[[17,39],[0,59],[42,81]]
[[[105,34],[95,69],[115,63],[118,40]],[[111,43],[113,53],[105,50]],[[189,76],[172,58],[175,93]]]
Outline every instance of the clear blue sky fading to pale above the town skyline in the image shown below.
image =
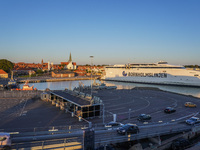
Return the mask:
[[0,59],[200,65],[200,0],[0,0]]

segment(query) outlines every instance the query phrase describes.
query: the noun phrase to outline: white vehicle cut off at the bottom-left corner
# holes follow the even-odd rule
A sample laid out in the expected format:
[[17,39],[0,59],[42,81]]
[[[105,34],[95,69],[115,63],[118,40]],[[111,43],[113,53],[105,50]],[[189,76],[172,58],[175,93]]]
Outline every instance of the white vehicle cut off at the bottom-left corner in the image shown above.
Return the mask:
[[9,133],[0,133],[0,149],[9,150],[11,148],[11,137]]

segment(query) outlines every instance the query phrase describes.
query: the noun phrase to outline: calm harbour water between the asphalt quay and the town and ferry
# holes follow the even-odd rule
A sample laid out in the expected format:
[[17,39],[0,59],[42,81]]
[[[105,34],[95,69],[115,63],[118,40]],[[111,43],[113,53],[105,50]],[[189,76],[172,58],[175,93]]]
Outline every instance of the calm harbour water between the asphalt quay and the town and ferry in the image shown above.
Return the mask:
[[[40,82],[40,83],[29,83],[30,86],[34,85],[34,88],[38,90],[64,90],[70,89],[73,90],[79,85],[90,86],[96,83],[104,83],[106,86],[117,86],[117,89],[132,89],[134,87],[154,87],[159,88],[164,91],[169,91],[173,93],[179,93],[184,95],[191,95],[194,97],[200,98],[200,88],[194,87],[182,87],[182,86],[166,86],[166,85],[151,85],[151,84],[138,84],[138,83],[124,83],[124,82],[113,82],[113,81],[99,81],[99,80],[77,80],[77,81],[61,81],[61,82]],[[22,88],[23,84],[20,84]]]

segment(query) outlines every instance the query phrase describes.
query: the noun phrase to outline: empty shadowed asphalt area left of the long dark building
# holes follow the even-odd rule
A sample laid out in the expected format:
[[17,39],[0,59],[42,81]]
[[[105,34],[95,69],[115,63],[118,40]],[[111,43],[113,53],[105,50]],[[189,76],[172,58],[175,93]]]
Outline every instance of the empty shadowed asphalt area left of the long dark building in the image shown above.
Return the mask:
[[4,99],[0,105],[0,131],[40,131],[53,127],[80,128],[79,122],[71,114],[61,111],[40,99]]

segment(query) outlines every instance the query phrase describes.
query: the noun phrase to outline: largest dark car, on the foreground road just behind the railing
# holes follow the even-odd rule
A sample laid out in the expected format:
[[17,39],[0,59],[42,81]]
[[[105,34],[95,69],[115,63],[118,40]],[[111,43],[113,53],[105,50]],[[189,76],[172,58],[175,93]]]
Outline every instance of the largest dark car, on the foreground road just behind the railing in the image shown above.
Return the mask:
[[127,134],[127,133],[138,133],[139,128],[136,124],[125,124],[117,129],[117,133],[119,134]]

